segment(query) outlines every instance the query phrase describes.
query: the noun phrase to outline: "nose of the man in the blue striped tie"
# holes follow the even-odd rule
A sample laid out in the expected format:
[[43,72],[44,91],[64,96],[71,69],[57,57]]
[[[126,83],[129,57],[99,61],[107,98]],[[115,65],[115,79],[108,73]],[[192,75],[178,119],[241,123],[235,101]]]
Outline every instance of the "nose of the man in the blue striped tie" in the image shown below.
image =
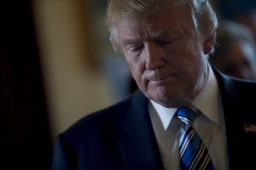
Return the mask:
[[165,65],[165,62],[161,57],[161,47],[159,47],[156,43],[145,44],[142,53],[145,56],[146,69],[153,71]]

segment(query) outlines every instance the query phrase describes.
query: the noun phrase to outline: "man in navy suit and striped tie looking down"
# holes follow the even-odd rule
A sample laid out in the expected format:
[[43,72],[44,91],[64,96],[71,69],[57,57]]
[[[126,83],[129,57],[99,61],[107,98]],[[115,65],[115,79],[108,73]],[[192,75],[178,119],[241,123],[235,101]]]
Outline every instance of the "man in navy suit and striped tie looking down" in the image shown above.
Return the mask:
[[[256,83],[207,62],[218,25],[207,0],[110,0],[107,24],[139,89],[58,135],[53,170],[255,167]],[[187,108],[198,114],[194,129],[190,118],[183,124]],[[181,153],[189,148],[185,126],[193,134],[189,147],[200,144],[207,156]]]

